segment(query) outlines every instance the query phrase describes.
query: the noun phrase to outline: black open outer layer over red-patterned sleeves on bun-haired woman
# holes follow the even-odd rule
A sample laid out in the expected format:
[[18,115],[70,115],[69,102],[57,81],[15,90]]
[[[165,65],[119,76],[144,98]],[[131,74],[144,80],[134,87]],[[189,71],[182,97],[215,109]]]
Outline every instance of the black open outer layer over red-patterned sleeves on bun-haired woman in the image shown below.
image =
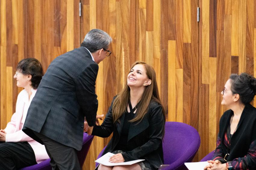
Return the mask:
[[[222,117],[220,118],[220,132],[219,137],[221,139],[221,143],[219,145],[220,152],[222,152],[222,156],[224,157],[227,153],[227,148],[223,144],[224,135],[226,133],[227,127],[229,126],[229,121],[234,112],[230,109],[224,112]],[[245,108],[242,112],[241,118],[239,120],[236,132],[232,136],[231,144],[230,144],[230,153],[227,158],[227,161],[232,161],[236,158],[243,158],[248,154],[249,147],[251,143],[256,140],[256,108],[251,106],[250,104],[245,105]],[[250,157],[247,155],[248,158]],[[223,159],[220,160],[224,162]],[[247,161],[247,165],[249,169],[256,168],[255,161]]]

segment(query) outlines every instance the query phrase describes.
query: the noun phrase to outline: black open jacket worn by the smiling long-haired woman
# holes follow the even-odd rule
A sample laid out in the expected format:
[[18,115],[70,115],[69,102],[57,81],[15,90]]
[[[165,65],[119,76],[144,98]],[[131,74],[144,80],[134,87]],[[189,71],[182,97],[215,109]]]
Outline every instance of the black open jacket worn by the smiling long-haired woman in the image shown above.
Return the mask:
[[[110,136],[113,132],[113,136],[102,155],[114,151],[122,132],[125,116],[123,114],[120,117],[120,123],[113,123],[112,105],[114,99],[104,122],[101,126],[95,125],[92,131],[92,135],[103,138]],[[163,164],[162,139],[164,135],[164,124],[165,120],[162,113],[162,106],[155,101],[151,101],[148,112],[142,121],[139,124],[132,122],[130,125],[127,139],[129,148],[127,149],[128,151],[122,153],[125,162],[145,159],[145,166],[152,169],[157,169]]]

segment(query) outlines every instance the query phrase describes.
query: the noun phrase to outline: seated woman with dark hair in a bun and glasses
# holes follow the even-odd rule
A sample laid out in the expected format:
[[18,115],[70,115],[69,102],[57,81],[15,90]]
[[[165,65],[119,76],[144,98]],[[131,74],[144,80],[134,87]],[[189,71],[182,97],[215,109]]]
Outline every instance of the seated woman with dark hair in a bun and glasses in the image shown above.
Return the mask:
[[250,102],[256,79],[232,74],[222,91],[222,105],[230,109],[220,118],[217,147],[204,170],[256,169],[256,108]]

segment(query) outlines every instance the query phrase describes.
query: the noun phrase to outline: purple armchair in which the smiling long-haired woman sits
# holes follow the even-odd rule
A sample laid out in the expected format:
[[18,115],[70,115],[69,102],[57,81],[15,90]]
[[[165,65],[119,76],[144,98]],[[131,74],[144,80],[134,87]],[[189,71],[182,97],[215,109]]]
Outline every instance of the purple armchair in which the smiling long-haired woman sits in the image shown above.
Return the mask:
[[[163,139],[164,170],[187,170],[185,162],[191,162],[200,146],[200,136],[194,127],[180,122],[166,122]],[[98,155],[102,156],[103,150]],[[98,159],[97,158],[97,159]],[[98,163],[96,163],[96,166]]]

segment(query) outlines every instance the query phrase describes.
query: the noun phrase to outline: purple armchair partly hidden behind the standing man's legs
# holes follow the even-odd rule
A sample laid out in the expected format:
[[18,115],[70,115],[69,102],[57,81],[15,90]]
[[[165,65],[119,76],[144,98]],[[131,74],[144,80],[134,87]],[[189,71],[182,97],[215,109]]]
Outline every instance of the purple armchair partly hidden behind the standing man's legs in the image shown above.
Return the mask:
[[[83,166],[84,160],[89,151],[93,137],[94,136],[91,135],[87,136],[87,133],[83,133],[83,146],[82,149],[77,152],[80,167]],[[28,166],[20,170],[52,170],[52,167],[50,166],[50,159],[48,159],[36,165]]]

